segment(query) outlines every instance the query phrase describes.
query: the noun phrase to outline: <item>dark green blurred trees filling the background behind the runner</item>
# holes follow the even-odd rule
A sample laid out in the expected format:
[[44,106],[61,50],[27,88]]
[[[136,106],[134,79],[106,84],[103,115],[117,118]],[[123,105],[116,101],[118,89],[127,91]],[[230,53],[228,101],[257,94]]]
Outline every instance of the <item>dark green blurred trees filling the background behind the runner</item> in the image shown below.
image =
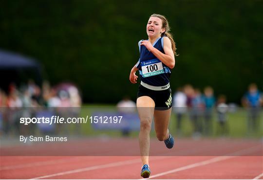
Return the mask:
[[169,19],[177,44],[171,86],[186,83],[239,103],[249,83],[263,87],[263,1],[3,1],[0,48],[33,56],[52,84],[72,81],[88,103],[115,103],[129,82],[153,13]]

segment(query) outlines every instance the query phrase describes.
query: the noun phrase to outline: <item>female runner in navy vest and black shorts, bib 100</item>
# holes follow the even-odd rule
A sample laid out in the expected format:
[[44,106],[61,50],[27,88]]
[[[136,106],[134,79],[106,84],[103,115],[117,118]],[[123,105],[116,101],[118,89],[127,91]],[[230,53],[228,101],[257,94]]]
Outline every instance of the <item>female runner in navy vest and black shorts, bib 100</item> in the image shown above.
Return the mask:
[[131,83],[137,83],[135,72],[138,70],[141,79],[136,105],[140,118],[139,146],[143,178],[150,177],[150,129],[153,117],[158,140],[164,141],[168,148],[174,144],[168,129],[172,101],[169,76],[176,55],[175,43],[164,16],[151,15],[146,31],[149,39],[139,41],[140,59],[130,73]]

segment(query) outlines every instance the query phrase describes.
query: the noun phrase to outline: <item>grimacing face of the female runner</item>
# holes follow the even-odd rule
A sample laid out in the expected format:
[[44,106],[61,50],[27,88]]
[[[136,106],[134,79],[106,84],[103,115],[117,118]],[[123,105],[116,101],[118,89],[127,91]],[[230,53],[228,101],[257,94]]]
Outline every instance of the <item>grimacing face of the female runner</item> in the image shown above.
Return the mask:
[[146,26],[146,32],[149,37],[158,37],[165,32],[165,29],[162,28],[162,19],[157,17],[150,17],[148,24]]

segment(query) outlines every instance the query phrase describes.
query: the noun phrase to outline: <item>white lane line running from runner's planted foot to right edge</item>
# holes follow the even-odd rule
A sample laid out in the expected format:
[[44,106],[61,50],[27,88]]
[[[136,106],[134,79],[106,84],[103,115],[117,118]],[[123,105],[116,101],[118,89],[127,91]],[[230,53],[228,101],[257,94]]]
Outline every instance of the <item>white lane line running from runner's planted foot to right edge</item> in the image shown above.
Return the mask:
[[202,166],[202,165],[207,165],[207,164],[214,163],[214,162],[220,162],[220,161],[223,161],[223,160],[226,160],[226,159],[231,159],[231,158],[234,158],[236,156],[242,156],[244,154],[252,153],[252,152],[255,152],[255,151],[258,151],[258,150],[259,150],[259,146],[254,146],[254,147],[251,147],[251,148],[247,148],[247,149],[243,149],[243,150],[240,150],[240,151],[236,151],[234,153],[225,154],[224,156],[215,157],[215,158],[212,158],[212,159],[209,159],[209,160],[206,160],[206,161],[196,162],[196,163],[189,164],[189,165],[186,165],[186,166],[183,166],[183,167],[172,169],[170,171],[159,173],[159,174],[150,176],[150,178],[147,178],[147,179],[164,176],[164,175],[167,175],[167,174],[175,173],[175,172],[178,172],[178,171],[183,171],[183,170],[186,170],[186,169],[191,169],[191,168]]

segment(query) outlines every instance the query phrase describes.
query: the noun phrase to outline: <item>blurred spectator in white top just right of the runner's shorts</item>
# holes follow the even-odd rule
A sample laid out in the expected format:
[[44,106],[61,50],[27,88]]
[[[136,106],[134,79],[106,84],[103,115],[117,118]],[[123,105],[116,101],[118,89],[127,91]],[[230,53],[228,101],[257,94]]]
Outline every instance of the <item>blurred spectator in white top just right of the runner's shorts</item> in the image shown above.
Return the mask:
[[181,134],[181,123],[183,114],[187,112],[187,96],[182,91],[182,88],[178,88],[173,95],[173,112],[176,116],[176,132],[178,135]]

